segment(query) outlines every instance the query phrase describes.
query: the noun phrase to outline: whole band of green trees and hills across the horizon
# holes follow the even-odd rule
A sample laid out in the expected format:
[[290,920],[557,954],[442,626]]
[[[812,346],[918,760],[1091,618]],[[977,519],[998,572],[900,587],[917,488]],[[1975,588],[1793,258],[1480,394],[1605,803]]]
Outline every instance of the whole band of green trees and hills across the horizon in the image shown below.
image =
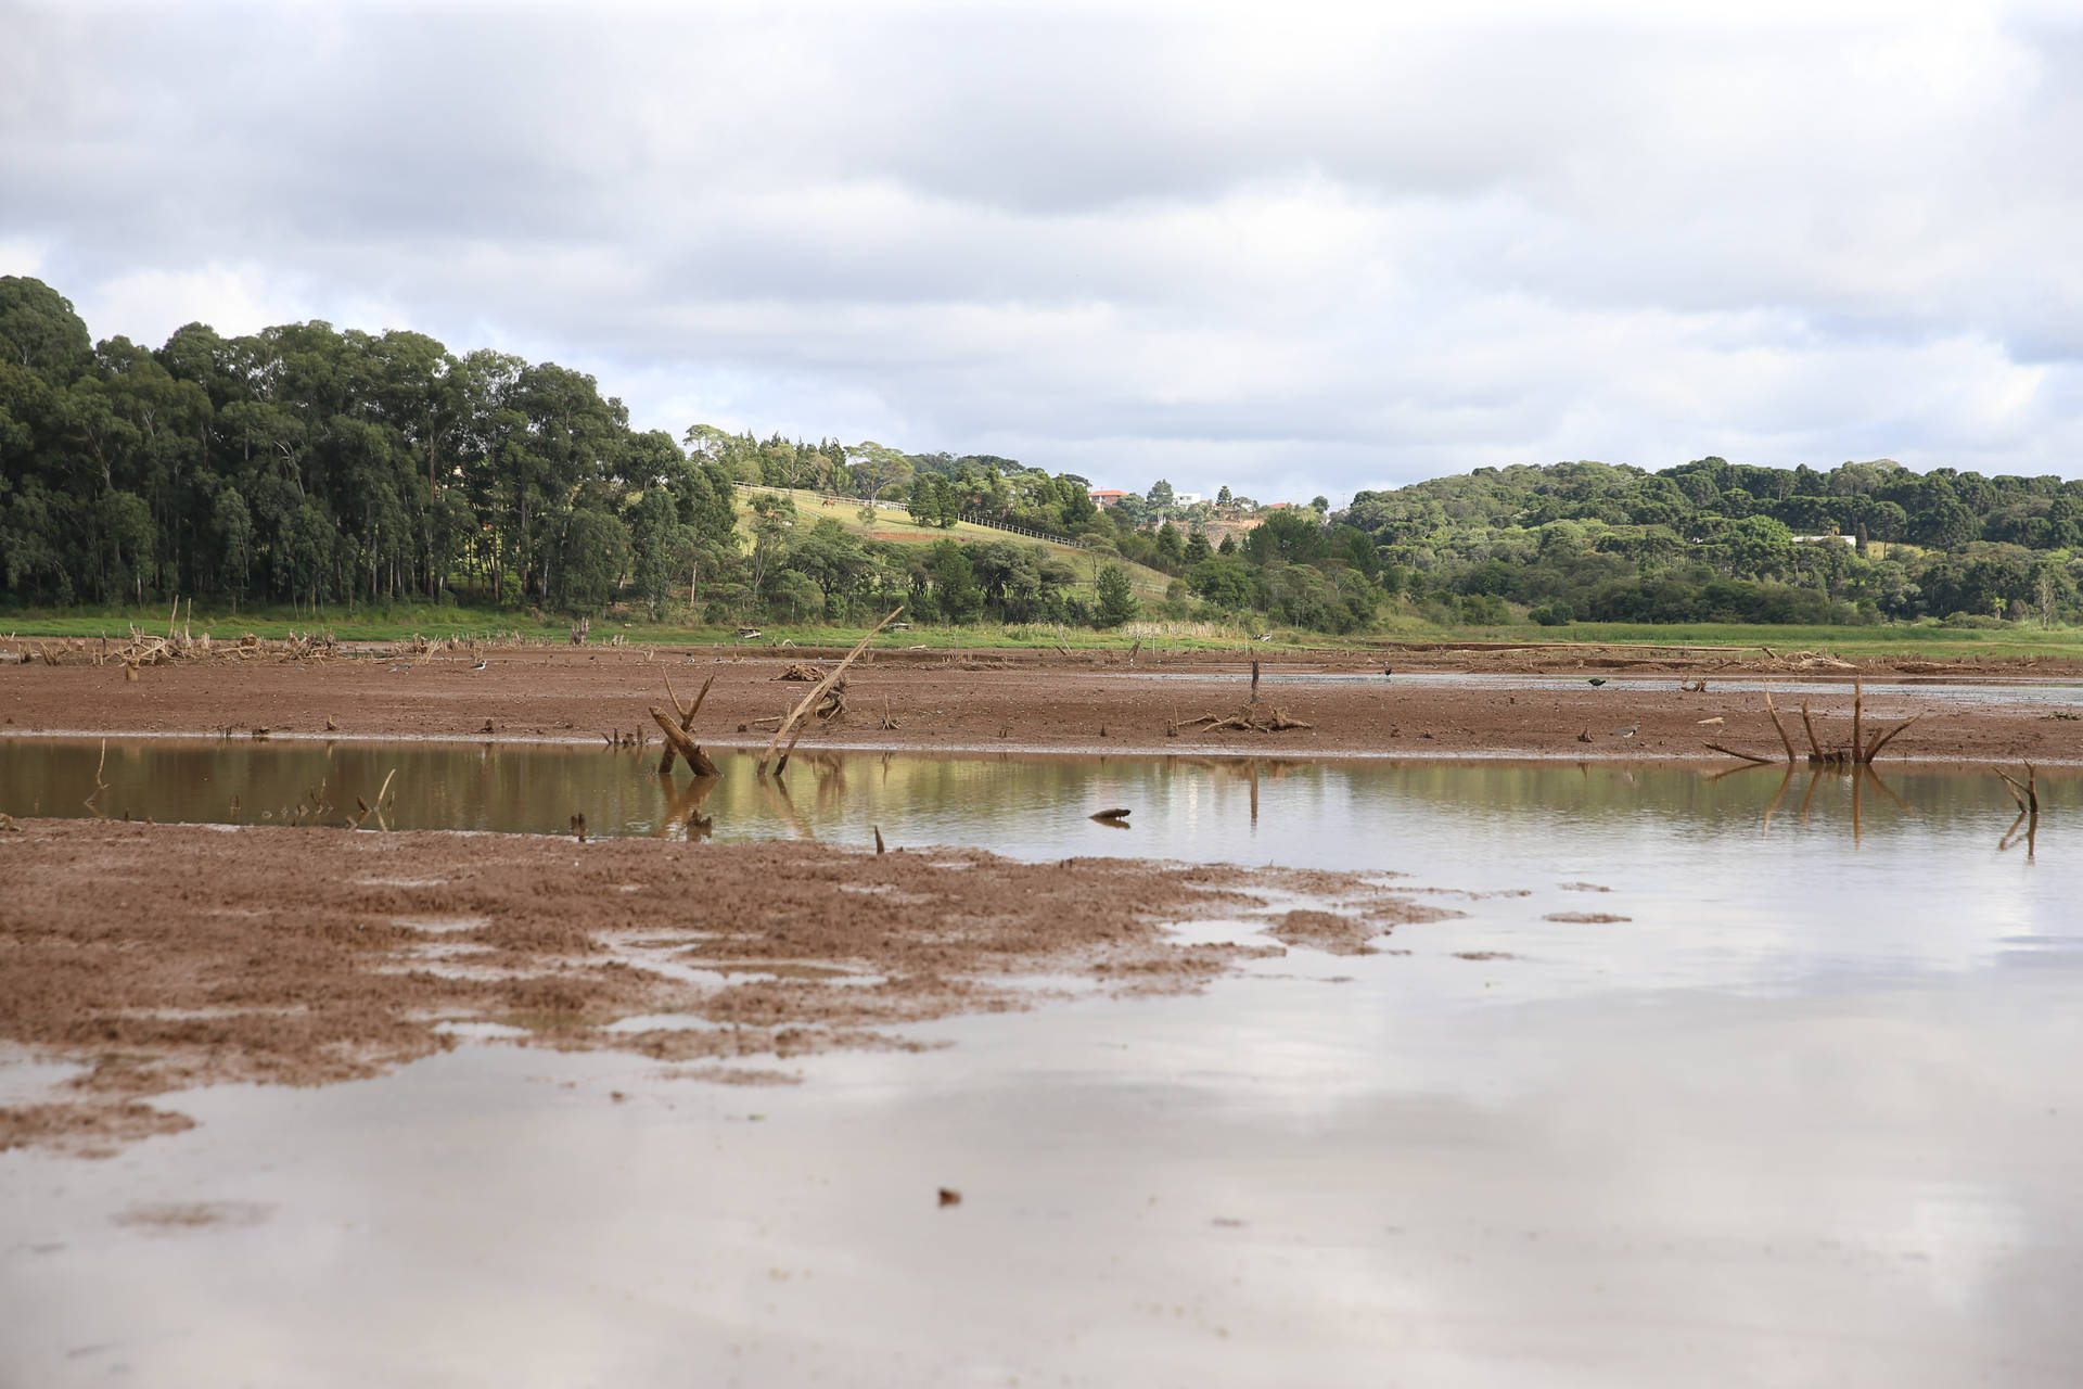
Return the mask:
[[[810,489],[798,510],[783,491]],[[1012,458],[635,431],[594,377],[421,333],[206,325],[96,344],[0,277],[0,606],[394,602],[706,623],[1360,631],[1383,614],[1956,625],[2079,616],[2083,483],[1893,462],[1479,469],[1333,512],[1164,481],[1100,508]],[[833,510],[837,506],[837,510]],[[877,537],[877,516],[952,529]],[[1012,533],[1017,531],[1017,533]],[[1077,546],[1075,554],[1035,544]],[[1171,579],[1137,602],[1119,560]]]

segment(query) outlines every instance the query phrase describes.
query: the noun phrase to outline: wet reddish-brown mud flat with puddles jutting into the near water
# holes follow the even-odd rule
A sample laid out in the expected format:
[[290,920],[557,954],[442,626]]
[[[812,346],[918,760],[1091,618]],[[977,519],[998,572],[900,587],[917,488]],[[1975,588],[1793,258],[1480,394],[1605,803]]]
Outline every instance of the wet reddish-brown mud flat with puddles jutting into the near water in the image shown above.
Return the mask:
[[79,1156],[190,1127],[152,1095],[379,1075],[458,1045],[454,1025],[771,1083],[792,1079],[773,1058],[917,1047],[912,1022],[1281,954],[1169,923],[1291,927],[1269,898],[1308,893],[1308,937],[1356,950],[1435,916],[1358,875],[96,820],[0,833],[0,1041],[81,1066],[0,1108],[0,1150]]

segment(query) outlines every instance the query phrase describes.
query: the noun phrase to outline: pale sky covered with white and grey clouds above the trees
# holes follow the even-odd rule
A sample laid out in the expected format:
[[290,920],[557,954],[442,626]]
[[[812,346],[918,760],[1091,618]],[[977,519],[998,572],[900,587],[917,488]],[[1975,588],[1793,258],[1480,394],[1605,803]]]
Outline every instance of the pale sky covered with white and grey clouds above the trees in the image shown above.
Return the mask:
[[23,4],[0,273],[1344,504],[2083,477],[2083,2]]

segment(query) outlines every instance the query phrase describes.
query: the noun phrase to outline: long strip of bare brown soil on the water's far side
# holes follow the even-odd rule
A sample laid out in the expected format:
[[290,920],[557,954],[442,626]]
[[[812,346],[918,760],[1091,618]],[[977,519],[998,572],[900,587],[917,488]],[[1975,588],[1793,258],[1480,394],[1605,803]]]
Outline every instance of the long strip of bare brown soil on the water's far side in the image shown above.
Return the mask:
[[[60,664],[0,666],[0,733],[212,733],[252,727],[273,733],[556,737],[594,739],[642,731],[656,741],[646,710],[669,704],[671,675],[681,698],[717,677],[696,737],[708,746],[764,746],[771,723],[800,698],[777,681],[794,662],[829,668],[835,652],[635,648],[498,648],[385,658],[179,660],[125,679],[119,662],[92,664],[92,650]],[[848,673],[848,710],[808,721],[804,748],[1062,750],[1062,752],[1258,752],[1275,756],[1519,754],[1568,758],[1718,758],[1706,743],[1781,758],[1762,689],[1791,679],[1841,681],[1810,700],[1825,743],[1850,731],[1850,662],[1821,656],[1754,654],[1750,660],[1668,652],[1652,658],[1614,648],[1404,650],[1381,654],[1264,654],[1260,710],[1279,708],[1308,729],[1262,733],[1173,725],[1227,718],[1250,698],[1250,662],[1227,652],[873,652]],[[1556,675],[1539,689],[1425,687],[1394,675],[1356,683],[1283,683],[1283,673],[1323,671],[1375,677],[1383,666]],[[1868,679],[1989,683],[2079,677],[2077,662],[1864,662]],[[1152,675],[1181,679],[1148,679]],[[1604,679],[1593,687],[1589,679]],[[1704,691],[1681,683],[1706,681]],[[2083,721],[2046,706],[1991,700],[1973,708],[1921,706],[1914,693],[1868,698],[1866,729],[1931,712],[1881,754],[1962,762],[2060,762],[2083,758]],[[1787,731],[1806,756],[1800,702],[1781,700]],[[2077,712],[2077,710],[2062,710]],[[1721,723],[1712,723],[1712,721]],[[896,725],[896,727],[885,727]],[[1635,727],[1631,737],[1621,731]]]

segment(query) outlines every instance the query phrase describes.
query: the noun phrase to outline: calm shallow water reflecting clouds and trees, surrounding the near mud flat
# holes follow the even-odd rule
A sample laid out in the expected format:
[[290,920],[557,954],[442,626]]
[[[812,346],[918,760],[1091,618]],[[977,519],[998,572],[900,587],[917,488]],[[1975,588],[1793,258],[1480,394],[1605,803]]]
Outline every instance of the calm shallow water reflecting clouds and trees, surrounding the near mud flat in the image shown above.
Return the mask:
[[[92,789],[98,743],[33,741],[0,808]],[[681,835],[652,758],[112,743],[98,802],[396,766],[392,823]],[[2079,789],[2004,850],[1987,773],[727,762],[717,839],[1354,866],[1466,916],[796,1085],[467,1045],[183,1095],[110,1162],[0,1154],[0,1383],[2071,1385]]]

